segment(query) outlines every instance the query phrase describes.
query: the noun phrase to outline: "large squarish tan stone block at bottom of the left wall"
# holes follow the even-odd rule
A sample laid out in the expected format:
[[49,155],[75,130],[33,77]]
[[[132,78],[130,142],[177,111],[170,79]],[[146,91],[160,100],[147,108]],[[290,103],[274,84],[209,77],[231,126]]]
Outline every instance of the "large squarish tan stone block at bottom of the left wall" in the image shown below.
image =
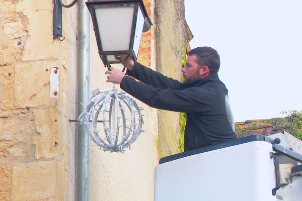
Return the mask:
[[57,162],[21,163],[13,167],[12,199],[57,200]]

